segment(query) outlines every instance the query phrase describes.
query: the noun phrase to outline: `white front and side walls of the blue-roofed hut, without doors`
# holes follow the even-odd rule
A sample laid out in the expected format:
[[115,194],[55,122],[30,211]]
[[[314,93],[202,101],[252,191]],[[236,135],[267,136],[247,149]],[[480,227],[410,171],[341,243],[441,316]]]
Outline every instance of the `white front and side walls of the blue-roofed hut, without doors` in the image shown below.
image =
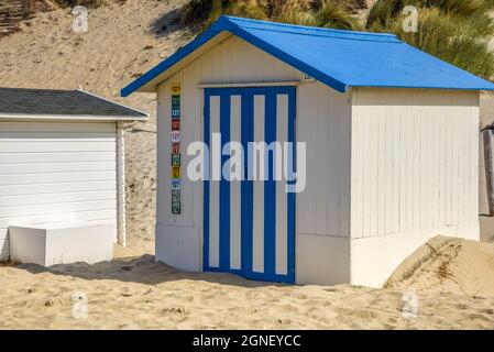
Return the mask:
[[[381,285],[435,234],[479,239],[479,92],[353,88],[314,81],[235,36],[157,87],[156,257],[202,268],[202,186],[186,147],[202,141],[207,84],[300,81],[296,141],[307,187],[296,195],[298,284]],[[182,84],[182,211],[171,211],[171,84]]]

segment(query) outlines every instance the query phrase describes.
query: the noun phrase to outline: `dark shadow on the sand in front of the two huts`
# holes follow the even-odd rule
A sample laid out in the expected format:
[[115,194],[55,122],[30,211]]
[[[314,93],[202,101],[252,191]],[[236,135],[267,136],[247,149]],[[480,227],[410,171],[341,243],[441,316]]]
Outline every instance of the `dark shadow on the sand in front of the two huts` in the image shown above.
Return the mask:
[[37,264],[19,264],[17,267],[32,274],[51,273],[53,275],[72,276],[88,280],[116,279],[145,285],[157,285],[177,280],[202,280],[242,287],[285,286],[284,284],[277,283],[250,280],[227,273],[182,272],[162,262],[155,262],[154,256],[150,254],[139,257],[116,258],[110,262],[100,262],[92,265],[80,262],[57,264],[50,267]]

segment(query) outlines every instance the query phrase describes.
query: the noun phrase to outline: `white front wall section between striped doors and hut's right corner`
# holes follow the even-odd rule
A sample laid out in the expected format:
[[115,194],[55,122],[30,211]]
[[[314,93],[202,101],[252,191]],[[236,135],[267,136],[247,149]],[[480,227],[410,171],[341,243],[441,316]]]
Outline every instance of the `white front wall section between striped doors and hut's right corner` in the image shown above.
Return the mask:
[[307,142],[307,187],[297,194],[297,232],[349,237],[350,103],[320,82],[301,85],[297,141]]

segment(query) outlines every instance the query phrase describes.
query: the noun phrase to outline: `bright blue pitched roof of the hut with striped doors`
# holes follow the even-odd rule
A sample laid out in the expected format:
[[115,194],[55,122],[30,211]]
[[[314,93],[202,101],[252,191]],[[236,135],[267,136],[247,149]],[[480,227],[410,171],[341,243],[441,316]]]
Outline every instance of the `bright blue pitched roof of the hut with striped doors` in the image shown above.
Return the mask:
[[230,32],[344,92],[349,87],[494,90],[494,84],[419,51],[393,34],[330,30],[221,16],[196,40],[122,89],[123,97]]

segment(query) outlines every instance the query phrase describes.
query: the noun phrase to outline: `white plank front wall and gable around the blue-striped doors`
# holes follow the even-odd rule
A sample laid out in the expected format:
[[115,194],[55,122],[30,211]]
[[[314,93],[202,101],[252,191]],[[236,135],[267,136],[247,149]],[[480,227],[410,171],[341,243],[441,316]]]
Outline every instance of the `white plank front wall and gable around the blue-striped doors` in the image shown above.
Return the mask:
[[[202,90],[198,84],[303,80],[303,74],[230,36],[158,87],[157,227],[202,228],[201,184],[186,176],[186,147],[202,140]],[[180,216],[171,211],[171,84],[182,82],[183,190]],[[297,87],[296,139],[307,142],[307,188],[296,196],[296,231],[305,235],[350,234],[350,101],[319,82]],[[190,231],[190,233],[196,231]],[[160,232],[157,232],[157,237]],[[172,234],[164,234],[171,237]],[[180,234],[182,235],[182,234]],[[182,240],[177,240],[182,241]],[[297,239],[297,242],[300,241]],[[160,258],[160,244],[157,244]],[[195,255],[195,254],[194,254]],[[185,255],[186,256],[186,255]],[[169,263],[169,261],[168,261]],[[173,264],[173,263],[171,263]],[[183,265],[183,267],[190,267]],[[199,268],[198,268],[199,270]]]

